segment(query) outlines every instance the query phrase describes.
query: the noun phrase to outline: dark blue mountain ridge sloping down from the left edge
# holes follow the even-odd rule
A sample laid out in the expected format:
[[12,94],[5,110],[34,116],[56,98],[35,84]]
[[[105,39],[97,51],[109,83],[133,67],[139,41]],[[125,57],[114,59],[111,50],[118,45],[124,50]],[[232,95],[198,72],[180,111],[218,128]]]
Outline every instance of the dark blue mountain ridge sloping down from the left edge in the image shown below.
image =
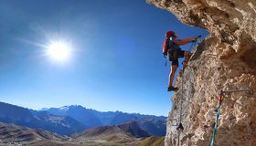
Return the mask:
[[4,102],[0,102],[0,121],[29,128],[54,131],[61,135],[86,129],[82,123],[69,116],[56,116],[48,111],[28,110]]

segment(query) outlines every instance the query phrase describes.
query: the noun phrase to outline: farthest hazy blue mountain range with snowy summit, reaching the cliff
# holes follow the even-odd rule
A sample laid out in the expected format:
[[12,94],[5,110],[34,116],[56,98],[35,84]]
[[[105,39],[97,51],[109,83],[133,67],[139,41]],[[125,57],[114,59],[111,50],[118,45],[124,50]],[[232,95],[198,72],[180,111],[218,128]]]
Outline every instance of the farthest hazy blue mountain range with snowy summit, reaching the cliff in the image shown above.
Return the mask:
[[69,116],[74,120],[80,121],[88,128],[95,126],[118,125],[134,120],[142,130],[145,130],[152,135],[164,136],[166,132],[166,117],[164,116],[125,113],[122,111],[101,112],[74,105],[44,110],[54,115]]

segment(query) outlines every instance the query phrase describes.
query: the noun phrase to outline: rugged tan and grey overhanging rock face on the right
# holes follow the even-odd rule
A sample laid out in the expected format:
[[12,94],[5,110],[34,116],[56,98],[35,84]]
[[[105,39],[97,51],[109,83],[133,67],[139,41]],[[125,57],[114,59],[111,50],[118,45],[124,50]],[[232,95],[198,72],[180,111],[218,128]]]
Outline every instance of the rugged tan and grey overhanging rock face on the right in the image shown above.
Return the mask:
[[[252,89],[224,94],[215,144],[252,146],[256,143],[256,1],[147,0],[189,26],[208,29],[191,57],[184,90],[173,96],[165,146],[177,145],[179,122],[184,126],[180,145],[209,145],[219,105],[220,90]],[[176,86],[181,88],[178,75]],[[180,104],[182,99],[182,104]]]

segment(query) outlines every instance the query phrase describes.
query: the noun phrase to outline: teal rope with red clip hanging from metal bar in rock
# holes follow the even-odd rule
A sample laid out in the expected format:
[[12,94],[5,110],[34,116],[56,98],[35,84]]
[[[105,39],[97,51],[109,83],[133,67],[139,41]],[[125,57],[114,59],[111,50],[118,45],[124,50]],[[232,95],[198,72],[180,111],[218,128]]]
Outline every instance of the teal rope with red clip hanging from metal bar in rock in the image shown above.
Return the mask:
[[210,146],[214,146],[215,135],[216,135],[217,127],[218,127],[220,106],[224,99],[224,93],[230,94],[230,93],[234,93],[234,92],[244,92],[244,91],[248,91],[251,95],[253,94],[252,89],[234,89],[234,90],[226,90],[226,91],[220,90],[220,92],[219,92],[219,107],[217,109],[217,116],[216,116],[216,120],[215,120],[215,125],[214,125],[214,130],[213,130]]

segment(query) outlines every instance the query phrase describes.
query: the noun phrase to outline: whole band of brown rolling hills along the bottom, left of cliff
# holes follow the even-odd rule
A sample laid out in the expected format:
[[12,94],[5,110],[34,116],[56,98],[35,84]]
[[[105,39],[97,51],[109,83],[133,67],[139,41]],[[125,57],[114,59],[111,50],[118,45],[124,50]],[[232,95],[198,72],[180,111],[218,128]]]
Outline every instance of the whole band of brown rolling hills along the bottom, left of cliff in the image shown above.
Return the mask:
[[[135,121],[101,126],[61,136],[47,130],[30,129],[0,122],[0,145],[29,146],[164,146],[164,137],[148,137]],[[138,139],[139,138],[139,139]]]

